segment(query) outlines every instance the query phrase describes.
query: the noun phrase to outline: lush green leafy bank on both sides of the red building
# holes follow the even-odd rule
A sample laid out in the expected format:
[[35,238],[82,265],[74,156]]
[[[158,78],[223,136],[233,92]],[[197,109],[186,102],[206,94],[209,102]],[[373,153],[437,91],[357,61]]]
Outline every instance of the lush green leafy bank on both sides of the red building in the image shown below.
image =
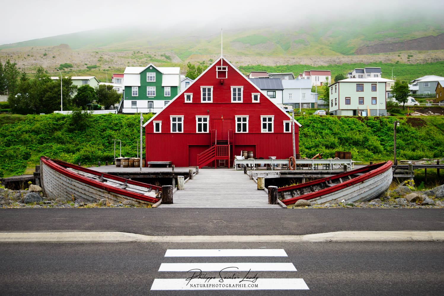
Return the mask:
[[[147,121],[151,115],[144,116]],[[0,177],[20,175],[27,167],[49,156],[71,163],[96,164],[112,161],[114,141],[122,140],[122,156],[136,156],[138,115],[94,115],[83,132],[69,132],[69,116],[61,114],[0,115]],[[350,151],[354,160],[393,158],[395,117],[297,116],[301,123],[300,153],[324,158],[335,151]],[[396,133],[398,159],[443,157],[444,117],[400,117]],[[413,127],[417,126],[417,127]],[[116,152],[119,155],[119,152]]]

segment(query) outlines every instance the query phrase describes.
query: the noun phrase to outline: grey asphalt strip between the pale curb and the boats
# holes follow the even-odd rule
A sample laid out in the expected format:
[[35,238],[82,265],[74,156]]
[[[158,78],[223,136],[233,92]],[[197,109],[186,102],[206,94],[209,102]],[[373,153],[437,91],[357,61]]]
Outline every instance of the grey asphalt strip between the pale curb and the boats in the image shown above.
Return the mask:
[[147,235],[301,235],[444,230],[441,209],[0,209],[0,231]]

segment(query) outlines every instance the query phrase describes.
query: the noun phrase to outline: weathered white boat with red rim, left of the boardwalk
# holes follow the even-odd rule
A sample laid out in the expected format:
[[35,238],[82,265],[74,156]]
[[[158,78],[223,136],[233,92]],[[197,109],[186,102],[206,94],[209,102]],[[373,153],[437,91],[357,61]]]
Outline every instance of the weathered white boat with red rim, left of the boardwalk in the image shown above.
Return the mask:
[[40,183],[50,199],[59,197],[110,203],[132,200],[138,205],[154,204],[160,200],[162,187],[108,175],[62,160],[40,158]]

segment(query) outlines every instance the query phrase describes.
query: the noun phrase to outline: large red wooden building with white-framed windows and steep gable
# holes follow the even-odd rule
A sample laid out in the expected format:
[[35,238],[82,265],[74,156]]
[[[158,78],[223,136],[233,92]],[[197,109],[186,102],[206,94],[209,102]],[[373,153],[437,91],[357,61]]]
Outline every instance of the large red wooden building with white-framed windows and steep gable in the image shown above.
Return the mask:
[[[145,123],[145,161],[202,167],[230,160],[231,166],[243,150],[254,158],[289,158],[291,119],[221,57]],[[301,125],[294,126],[299,153]]]

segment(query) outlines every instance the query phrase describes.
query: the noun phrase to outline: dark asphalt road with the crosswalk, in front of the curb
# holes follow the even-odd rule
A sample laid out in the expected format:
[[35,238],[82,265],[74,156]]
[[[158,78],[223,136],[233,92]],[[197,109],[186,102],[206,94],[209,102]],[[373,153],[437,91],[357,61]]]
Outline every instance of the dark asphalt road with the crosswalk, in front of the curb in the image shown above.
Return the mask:
[[[165,257],[166,250],[194,248],[283,249],[288,257]],[[442,295],[443,251],[442,242],[0,244],[0,294]],[[166,290],[151,290],[160,279],[177,279],[175,282],[183,286],[192,275],[159,271],[161,266],[165,268],[162,264],[190,263],[187,266],[191,269],[202,269],[202,262],[238,268],[241,263],[246,263],[247,268],[253,263],[282,263],[294,266],[295,270],[250,272],[257,274],[258,288],[263,287],[262,279],[272,278],[274,282],[269,288],[274,290],[171,291],[168,289],[174,288],[173,284],[162,283],[157,288]],[[175,265],[172,267],[177,270]],[[218,284],[218,271],[203,273],[216,277],[210,283]],[[247,271],[221,275],[233,273],[243,278]],[[282,290],[288,288],[288,283],[282,282],[288,278],[293,279],[290,283],[299,279],[309,290]]]

